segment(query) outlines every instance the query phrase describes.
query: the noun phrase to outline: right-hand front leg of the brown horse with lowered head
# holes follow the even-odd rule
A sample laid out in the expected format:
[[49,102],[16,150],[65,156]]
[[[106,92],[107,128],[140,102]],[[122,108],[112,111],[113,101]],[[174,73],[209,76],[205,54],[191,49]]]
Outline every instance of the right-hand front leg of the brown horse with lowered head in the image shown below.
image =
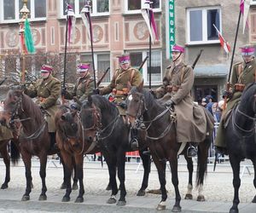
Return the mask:
[[84,202],[84,154],[76,155],[75,158],[72,159],[73,165],[75,162],[76,175],[79,180],[79,197],[75,200],[75,203],[83,203]]

